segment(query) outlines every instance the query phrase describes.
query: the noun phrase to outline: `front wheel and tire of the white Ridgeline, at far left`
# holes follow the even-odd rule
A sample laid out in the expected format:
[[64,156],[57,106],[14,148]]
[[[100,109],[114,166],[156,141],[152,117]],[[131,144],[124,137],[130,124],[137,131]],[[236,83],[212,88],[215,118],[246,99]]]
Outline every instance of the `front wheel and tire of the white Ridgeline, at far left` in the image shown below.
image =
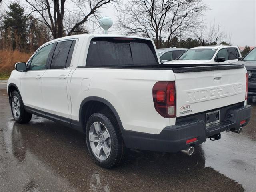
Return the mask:
[[11,111],[14,120],[17,123],[27,123],[31,120],[32,114],[26,112],[20,94],[13,91],[11,94]]

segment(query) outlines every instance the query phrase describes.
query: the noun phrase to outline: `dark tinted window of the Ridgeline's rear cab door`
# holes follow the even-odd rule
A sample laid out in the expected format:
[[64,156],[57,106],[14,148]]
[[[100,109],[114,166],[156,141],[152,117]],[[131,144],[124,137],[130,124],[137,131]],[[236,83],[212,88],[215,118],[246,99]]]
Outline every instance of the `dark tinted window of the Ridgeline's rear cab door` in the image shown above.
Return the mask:
[[52,56],[50,69],[63,69],[70,66],[75,40],[58,42]]

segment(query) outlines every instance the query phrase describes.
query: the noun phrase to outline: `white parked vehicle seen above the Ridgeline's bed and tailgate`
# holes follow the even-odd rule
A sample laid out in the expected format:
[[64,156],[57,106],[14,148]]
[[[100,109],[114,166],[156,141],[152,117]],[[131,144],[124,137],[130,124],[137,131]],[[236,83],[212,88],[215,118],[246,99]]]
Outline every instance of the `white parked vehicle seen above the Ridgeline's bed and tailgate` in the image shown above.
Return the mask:
[[231,64],[242,58],[236,46],[201,46],[187,50],[176,60],[165,64]]

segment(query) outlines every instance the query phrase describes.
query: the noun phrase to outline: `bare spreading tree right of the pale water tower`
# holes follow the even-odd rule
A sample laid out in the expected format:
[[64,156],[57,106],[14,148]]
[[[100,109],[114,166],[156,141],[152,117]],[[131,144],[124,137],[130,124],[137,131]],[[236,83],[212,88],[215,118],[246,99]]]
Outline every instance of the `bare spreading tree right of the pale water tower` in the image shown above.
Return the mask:
[[156,47],[195,25],[208,7],[202,0],[129,0],[119,8],[118,27],[124,34],[153,38]]

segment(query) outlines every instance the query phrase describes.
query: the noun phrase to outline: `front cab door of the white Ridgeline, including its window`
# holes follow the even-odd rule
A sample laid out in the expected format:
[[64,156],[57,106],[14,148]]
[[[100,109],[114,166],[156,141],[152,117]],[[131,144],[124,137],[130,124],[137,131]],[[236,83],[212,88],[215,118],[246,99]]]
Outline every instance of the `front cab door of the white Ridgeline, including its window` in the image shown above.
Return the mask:
[[43,111],[42,76],[46,72],[54,43],[40,48],[29,60],[28,71],[21,76],[22,100],[26,107]]

